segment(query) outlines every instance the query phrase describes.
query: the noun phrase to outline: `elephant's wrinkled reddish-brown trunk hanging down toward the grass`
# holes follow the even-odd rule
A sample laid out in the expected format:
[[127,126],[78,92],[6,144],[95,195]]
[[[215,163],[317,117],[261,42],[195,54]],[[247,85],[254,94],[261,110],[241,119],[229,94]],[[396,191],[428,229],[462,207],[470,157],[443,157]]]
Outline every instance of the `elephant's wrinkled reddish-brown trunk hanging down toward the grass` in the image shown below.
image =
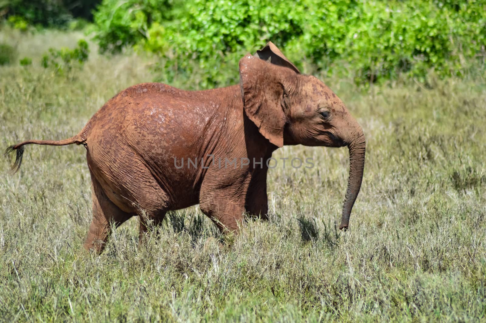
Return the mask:
[[360,191],[361,181],[363,179],[366,143],[364,141],[363,129],[360,126],[357,126],[357,129],[350,136],[349,140],[347,140],[347,147],[349,148],[349,179],[343,205],[343,216],[341,218],[341,225],[339,225],[339,229],[345,230],[349,226],[349,215]]

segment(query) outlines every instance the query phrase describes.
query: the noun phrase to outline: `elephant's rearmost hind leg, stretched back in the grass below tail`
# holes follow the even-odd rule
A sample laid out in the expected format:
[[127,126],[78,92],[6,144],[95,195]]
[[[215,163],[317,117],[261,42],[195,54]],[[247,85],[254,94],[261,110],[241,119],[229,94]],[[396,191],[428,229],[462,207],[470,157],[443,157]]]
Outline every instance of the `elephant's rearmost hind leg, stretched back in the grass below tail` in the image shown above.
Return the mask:
[[91,196],[93,199],[93,219],[89,225],[84,248],[100,254],[103,252],[111,234],[111,223],[118,227],[134,214],[122,211],[111,202],[93,174],[91,174]]

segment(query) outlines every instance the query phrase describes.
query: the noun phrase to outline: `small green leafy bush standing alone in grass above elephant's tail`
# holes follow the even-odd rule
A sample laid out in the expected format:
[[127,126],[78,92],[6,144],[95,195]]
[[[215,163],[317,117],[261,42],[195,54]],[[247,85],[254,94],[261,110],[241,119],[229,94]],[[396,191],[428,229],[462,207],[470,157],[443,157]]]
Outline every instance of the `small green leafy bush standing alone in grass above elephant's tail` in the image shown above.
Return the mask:
[[42,56],[41,65],[43,68],[53,68],[56,73],[64,73],[70,70],[75,64],[82,67],[89,55],[88,43],[84,39],[78,41],[78,46],[74,49],[63,48],[56,50],[49,49],[49,53]]

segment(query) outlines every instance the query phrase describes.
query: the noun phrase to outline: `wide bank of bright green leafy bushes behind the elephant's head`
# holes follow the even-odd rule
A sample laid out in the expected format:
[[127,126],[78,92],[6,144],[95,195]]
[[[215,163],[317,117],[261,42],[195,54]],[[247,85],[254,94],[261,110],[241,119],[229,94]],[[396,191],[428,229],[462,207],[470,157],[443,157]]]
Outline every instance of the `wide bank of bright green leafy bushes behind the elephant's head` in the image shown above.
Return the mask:
[[161,68],[173,74],[192,73],[195,60],[208,72],[204,87],[227,83],[234,76],[221,70],[269,40],[299,67],[361,84],[400,73],[424,81],[430,68],[462,75],[486,55],[485,0],[192,0],[175,19],[160,14],[172,12],[165,1],[133,2],[103,2],[95,19],[102,51],[138,44],[169,59]]

